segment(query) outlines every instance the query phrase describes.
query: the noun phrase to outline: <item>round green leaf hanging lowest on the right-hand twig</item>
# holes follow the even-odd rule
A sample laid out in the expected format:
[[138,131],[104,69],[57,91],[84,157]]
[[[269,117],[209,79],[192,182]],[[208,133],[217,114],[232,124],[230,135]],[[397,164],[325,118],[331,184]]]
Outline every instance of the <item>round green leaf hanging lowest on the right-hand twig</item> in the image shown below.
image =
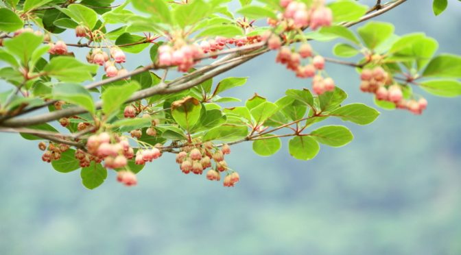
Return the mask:
[[311,160],[317,156],[320,146],[314,138],[296,136],[289,140],[288,150],[298,160]]

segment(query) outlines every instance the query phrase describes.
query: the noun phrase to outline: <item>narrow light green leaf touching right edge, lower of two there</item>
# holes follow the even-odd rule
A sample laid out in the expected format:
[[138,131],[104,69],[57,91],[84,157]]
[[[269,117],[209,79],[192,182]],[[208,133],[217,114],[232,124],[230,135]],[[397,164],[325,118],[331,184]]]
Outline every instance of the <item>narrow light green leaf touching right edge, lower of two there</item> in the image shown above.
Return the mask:
[[440,97],[458,97],[461,95],[461,82],[457,80],[431,80],[420,82],[423,90]]

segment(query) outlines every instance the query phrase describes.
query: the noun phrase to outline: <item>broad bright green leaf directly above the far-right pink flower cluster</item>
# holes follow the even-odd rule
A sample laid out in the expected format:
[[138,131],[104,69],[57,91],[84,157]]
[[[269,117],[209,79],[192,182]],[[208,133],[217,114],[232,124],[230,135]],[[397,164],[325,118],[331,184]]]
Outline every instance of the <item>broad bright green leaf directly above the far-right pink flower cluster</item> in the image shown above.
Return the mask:
[[375,49],[394,34],[394,25],[390,23],[370,21],[357,29],[365,45]]

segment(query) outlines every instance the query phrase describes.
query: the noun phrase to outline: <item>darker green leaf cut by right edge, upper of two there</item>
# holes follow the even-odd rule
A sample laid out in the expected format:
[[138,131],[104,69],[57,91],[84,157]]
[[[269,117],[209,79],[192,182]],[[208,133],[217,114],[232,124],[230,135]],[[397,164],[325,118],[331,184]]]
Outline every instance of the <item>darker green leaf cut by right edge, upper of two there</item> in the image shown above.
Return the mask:
[[425,77],[461,77],[461,57],[442,54],[433,58],[423,71]]

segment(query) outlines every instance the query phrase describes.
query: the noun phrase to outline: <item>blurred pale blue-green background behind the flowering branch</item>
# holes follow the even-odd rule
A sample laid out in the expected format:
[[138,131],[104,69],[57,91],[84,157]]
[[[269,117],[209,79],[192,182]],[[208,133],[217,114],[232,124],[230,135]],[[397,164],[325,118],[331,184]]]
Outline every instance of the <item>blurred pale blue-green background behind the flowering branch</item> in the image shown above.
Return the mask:
[[[438,17],[431,7],[407,1],[377,20],[393,22],[397,34],[425,32],[440,43],[438,53],[461,54],[461,3],[449,1]],[[128,69],[149,61],[128,55]],[[227,95],[258,92],[274,101],[287,88],[310,87],[274,57],[226,73],[250,77]],[[352,69],[327,69],[346,103],[373,105]],[[110,172],[89,191],[79,171],[58,173],[42,162],[36,142],[0,133],[0,254],[461,254],[461,99],[427,99],[423,116],[380,110],[371,125],[345,123],[355,140],[322,146],[307,162],[291,158],[287,143],[269,158],[250,143],[235,145],[228,162],[241,182],[231,189],[182,174],[165,155],[133,188]]]

